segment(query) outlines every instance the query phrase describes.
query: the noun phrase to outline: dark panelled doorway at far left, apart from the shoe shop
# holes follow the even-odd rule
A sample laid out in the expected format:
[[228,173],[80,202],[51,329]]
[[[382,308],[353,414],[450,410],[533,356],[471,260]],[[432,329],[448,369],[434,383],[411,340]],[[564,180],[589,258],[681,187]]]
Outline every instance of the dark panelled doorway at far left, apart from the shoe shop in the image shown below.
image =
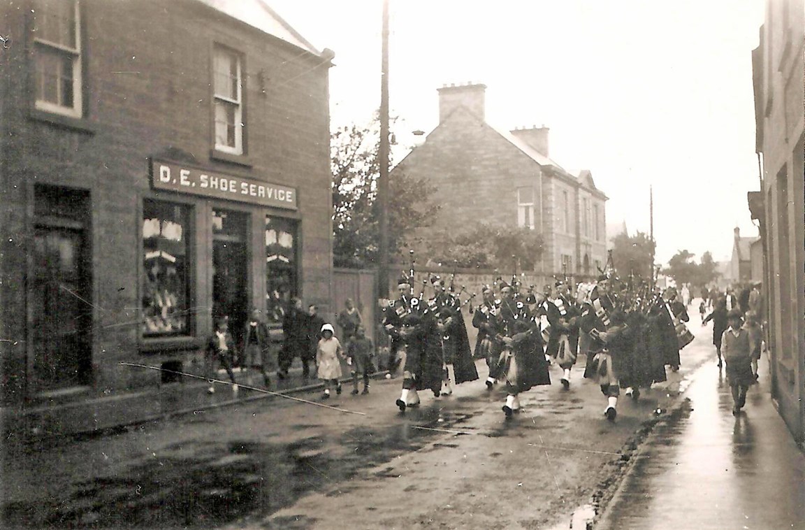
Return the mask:
[[93,303],[89,197],[37,187],[31,274],[31,374],[36,391],[89,384]]

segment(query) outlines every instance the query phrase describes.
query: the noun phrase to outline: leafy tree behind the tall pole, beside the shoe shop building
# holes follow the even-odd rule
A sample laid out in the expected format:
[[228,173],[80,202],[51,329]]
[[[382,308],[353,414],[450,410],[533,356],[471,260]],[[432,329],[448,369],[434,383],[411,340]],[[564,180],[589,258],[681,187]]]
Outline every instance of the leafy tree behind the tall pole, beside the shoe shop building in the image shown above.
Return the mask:
[[[330,139],[332,170],[333,264],[336,267],[371,267],[378,263],[380,211],[378,207],[378,150],[380,126],[345,126]],[[438,211],[427,197],[433,187],[426,180],[394,172],[389,180],[388,236],[390,262],[396,261],[405,235],[427,226]]]

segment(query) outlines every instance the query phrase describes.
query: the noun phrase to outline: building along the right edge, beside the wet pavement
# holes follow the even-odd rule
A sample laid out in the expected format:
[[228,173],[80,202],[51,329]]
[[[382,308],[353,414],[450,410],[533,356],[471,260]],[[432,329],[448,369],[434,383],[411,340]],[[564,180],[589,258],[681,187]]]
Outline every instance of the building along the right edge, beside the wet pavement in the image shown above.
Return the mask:
[[749,193],[766,256],[763,294],[772,395],[796,441],[805,441],[805,118],[803,0],[769,0],[752,52],[756,150],[762,189]]

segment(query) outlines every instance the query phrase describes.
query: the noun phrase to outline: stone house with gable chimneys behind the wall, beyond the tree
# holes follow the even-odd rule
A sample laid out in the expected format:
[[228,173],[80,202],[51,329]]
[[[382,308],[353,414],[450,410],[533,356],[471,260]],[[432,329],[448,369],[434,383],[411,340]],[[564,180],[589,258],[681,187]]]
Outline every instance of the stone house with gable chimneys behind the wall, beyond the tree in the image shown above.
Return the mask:
[[427,179],[441,206],[436,226],[525,226],[543,235],[538,267],[595,275],[606,263],[607,197],[584,170],[550,157],[548,128],[500,130],[485,118],[485,85],[438,89],[439,125],[391,172]]

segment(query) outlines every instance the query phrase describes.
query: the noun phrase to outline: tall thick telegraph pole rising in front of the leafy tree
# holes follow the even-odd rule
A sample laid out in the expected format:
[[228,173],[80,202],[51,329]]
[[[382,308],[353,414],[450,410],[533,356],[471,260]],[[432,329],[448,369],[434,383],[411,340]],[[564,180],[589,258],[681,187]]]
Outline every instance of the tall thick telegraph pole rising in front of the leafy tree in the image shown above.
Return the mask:
[[383,0],[382,59],[380,74],[380,245],[378,249],[378,296],[389,297],[389,0]]

